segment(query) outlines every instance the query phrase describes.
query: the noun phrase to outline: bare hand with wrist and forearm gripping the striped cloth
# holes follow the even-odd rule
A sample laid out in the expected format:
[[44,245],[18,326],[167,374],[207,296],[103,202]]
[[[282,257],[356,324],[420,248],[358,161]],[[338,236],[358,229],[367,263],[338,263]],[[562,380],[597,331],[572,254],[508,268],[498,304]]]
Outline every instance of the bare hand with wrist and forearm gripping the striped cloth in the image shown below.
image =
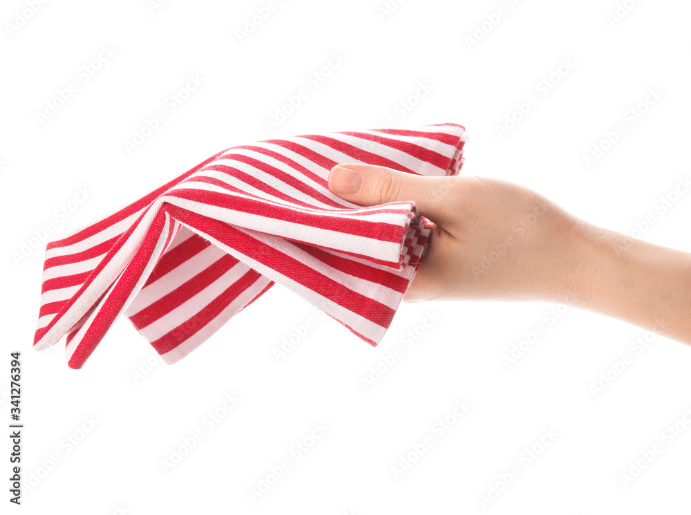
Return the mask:
[[587,223],[520,185],[343,163],[334,194],[414,200],[435,224],[404,300],[547,301],[691,344],[691,254]]

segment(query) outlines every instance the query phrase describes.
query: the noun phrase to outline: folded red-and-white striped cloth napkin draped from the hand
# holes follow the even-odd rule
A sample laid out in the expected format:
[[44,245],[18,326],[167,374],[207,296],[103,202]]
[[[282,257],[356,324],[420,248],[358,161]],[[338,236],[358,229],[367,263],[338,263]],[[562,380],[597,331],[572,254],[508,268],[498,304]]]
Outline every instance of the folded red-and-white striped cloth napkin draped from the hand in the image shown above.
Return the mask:
[[377,345],[432,225],[414,202],[362,207],[328,189],[342,162],[455,175],[464,127],[299,135],[231,147],[46,246],[34,348],[65,335],[81,368],[124,314],[168,364],[279,283]]

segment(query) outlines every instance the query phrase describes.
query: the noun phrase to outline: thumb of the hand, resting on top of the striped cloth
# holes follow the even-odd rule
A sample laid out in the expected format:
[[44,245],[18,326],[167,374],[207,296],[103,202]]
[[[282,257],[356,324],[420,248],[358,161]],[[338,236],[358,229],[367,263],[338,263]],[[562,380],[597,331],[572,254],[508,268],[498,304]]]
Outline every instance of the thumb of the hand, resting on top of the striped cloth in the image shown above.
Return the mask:
[[419,176],[387,167],[344,163],[331,169],[329,189],[344,200],[359,205],[413,200],[419,214],[442,223],[448,218],[444,212],[443,195],[448,191],[448,180],[453,178]]

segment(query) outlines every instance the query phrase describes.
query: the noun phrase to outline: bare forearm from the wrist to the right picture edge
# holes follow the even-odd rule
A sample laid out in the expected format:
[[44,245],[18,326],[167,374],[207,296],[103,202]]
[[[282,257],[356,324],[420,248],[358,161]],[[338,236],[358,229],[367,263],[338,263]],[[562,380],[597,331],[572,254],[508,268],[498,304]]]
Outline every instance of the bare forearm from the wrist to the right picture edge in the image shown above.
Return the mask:
[[574,305],[691,344],[691,254],[578,221]]

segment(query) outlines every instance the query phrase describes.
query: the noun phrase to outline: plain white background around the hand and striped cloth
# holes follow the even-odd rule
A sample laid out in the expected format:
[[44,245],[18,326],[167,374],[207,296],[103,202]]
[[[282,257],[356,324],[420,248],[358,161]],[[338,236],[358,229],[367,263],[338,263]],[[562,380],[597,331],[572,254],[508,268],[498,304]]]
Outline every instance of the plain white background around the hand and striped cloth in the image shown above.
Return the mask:
[[[688,513],[691,349],[676,341],[647,335],[652,344],[638,354],[640,328],[540,303],[404,303],[372,348],[276,286],[178,364],[154,359],[120,319],[75,371],[64,342],[31,348],[45,241],[19,263],[12,253],[47,223],[54,234],[88,223],[232,145],[387,119],[395,127],[463,124],[464,174],[519,182],[627,234],[652,214],[638,236],[691,251],[691,194],[665,214],[655,207],[690,171],[691,4],[630,0],[613,21],[615,1],[408,0],[384,11],[384,0],[276,0],[242,41],[237,31],[267,2],[172,0],[152,11],[146,0],[64,0],[37,12],[30,4],[8,0],[0,9],[0,407],[9,423],[9,353],[21,351],[22,471],[35,476],[12,509]],[[483,30],[500,7],[504,16]],[[30,18],[13,28],[22,12]],[[79,68],[108,45],[115,55],[83,82]],[[319,87],[308,85],[332,53],[343,62],[332,61]],[[575,66],[538,89],[562,59]],[[202,84],[171,111],[167,99],[195,73]],[[78,90],[41,124],[37,113],[71,81]],[[267,120],[302,87],[307,99],[269,130]],[[625,117],[649,88],[662,96],[631,125]],[[497,127],[530,95],[537,105],[500,137]],[[124,142],[160,109],[166,120],[128,153]],[[617,124],[625,133],[587,167],[584,154]],[[53,212],[79,187],[91,193],[60,223]],[[441,318],[423,330],[428,311]],[[277,361],[274,349],[309,319],[316,327]],[[537,325],[544,334],[507,368],[502,357]],[[408,348],[403,338],[416,328]],[[366,390],[361,378],[396,348],[399,359]],[[596,395],[591,385],[625,354],[630,364],[610,371],[616,377]],[[209,427],[207,413],[223,413],[228,393],[240,402]],[[437,438],[433,424],[456,400],[470,408]],[[84,434],[88,417],[96,424]],[[328,430],[297,459],[292,446],[320,422]],[[665,428],[675,422],[682,429],[670,442]],[[556,438],[529,462],[522,453],[550,430]],[[194,431],[202,439],[164,470],[162,460],[184,452]],[[391,467],[425,437],[433,445],[396,480]],[[663,452],[626,487],[621,474],[654,444]],[[283,459],[290,469],[253,502],[251,489]],[[513,466],[520,474],[503,488]],[[502,492],[483,505],[493,485]]]

